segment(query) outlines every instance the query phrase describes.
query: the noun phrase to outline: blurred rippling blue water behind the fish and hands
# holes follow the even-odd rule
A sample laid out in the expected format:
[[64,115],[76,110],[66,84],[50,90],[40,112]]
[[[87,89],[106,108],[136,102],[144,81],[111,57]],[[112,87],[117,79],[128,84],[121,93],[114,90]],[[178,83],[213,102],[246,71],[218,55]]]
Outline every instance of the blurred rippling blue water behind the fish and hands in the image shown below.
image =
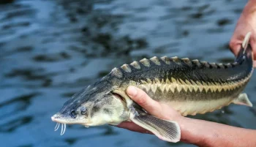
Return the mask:
[[[110,127],[68,125],[50,116],[113,67],[152,56],[233,61],[228,43],[241,0],[1,0],[0,146],[191,146]],[[256,75],[246,87],[256,105]],[[196,118],[256,129],[240,105]]]

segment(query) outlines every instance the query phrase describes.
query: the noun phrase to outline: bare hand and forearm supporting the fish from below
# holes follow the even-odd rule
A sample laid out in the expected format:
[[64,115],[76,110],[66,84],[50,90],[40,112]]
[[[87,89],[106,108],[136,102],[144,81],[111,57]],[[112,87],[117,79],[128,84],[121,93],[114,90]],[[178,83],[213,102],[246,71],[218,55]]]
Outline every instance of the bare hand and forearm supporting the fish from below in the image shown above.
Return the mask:
[[[140,90],[129,86],[127,94],[148,113],[158,118],[175,120],[181,127],[181,141],[197,146],[256,146],[256,130],[230,127],[211,121],[202,121],[181,116],[169,106],[156,102]],[[132,122],[123,122],[118,125],[135,132],[149,133],[146,129]]]

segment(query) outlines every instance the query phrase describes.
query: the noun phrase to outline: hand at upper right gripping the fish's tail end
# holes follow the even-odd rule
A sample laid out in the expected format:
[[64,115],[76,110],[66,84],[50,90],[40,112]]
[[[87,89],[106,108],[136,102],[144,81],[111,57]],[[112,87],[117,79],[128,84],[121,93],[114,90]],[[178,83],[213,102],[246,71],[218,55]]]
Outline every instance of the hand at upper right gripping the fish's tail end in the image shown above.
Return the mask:
[[254,67],[256,67],[256,0],[249,0],[238,19],[233,37],[230,39],[230,50],[237,56],[248,32],[252,32],[250,45],[254,53]]

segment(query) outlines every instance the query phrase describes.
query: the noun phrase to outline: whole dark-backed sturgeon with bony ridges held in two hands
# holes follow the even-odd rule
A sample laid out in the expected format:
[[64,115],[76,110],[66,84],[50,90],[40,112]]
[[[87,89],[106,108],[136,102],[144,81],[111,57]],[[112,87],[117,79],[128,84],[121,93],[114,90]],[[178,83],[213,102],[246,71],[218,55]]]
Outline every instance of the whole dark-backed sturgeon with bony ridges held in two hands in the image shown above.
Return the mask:
[[166,103],[181,115],[206,113],[235,103],[252,107],[246,94],[241,93],[253,72],[252,48],[246,34],[241,50],[232,64],[215,64],[178,57],[153,57],[124,64],[83,88],[64,103],[51,117],[61,124],[85,127],[103,124],[118,125],[133,121],[162,140],[178,142],[181,130],[175,120],[163,120],[148,114],[126,93],[128,86],[143,89],[157,102]]

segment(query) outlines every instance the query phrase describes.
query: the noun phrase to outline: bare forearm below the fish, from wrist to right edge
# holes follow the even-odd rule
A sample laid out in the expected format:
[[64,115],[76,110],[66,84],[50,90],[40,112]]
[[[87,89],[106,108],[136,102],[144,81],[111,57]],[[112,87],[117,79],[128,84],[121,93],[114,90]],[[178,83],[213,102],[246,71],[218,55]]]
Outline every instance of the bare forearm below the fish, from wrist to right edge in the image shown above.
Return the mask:
[[256,146],[256,130],[230,127],[211,121],[181,118],[181,141],[197,146]]

